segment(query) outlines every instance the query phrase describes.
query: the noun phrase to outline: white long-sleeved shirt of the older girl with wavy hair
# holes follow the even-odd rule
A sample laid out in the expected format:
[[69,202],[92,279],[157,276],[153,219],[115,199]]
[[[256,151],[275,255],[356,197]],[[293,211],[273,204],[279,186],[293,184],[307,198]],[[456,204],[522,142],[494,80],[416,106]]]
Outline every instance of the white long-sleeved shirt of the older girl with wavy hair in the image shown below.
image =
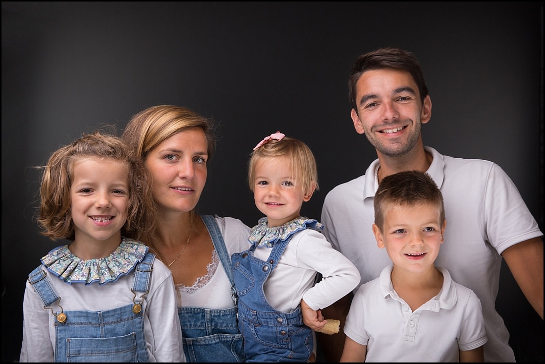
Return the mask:
[[[44,267],[42,267],[43,270]],[[47,274],[46,278],[60,297],[64,311],[104,311],[132,304],[134,274],[99,285],[72,283]],[[150,362],[185,362],[181,328],[171,271],[155,258],[149,293],[144,296],[144,338]],[[53,305],[56,309],[56,305]],[[27,280],[23,301],[23,342],[20,362],[53,362],[56,318]]]

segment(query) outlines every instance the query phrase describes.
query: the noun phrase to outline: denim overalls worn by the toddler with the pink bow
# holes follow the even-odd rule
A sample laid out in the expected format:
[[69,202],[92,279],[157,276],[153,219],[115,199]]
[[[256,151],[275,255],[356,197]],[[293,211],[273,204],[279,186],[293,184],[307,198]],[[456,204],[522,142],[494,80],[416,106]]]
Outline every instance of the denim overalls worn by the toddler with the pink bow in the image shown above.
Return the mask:
[[292,313],[276,311],[263,292],[291,238],[275,242],[266,262],[253,256],[255,244],[231,256],[247,362],[306,362],[312,354],[312,330],[302,321],[301,306]]

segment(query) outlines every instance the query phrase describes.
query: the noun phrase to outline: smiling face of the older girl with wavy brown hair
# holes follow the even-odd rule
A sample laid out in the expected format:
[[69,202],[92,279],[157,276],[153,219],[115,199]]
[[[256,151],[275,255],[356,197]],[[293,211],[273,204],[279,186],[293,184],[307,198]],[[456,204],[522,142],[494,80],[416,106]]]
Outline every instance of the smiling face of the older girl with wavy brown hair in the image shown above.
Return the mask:
[[84,158],[72,168],[71,215],[75,241],[121,241],[127,219],[129,167],[111,159]]

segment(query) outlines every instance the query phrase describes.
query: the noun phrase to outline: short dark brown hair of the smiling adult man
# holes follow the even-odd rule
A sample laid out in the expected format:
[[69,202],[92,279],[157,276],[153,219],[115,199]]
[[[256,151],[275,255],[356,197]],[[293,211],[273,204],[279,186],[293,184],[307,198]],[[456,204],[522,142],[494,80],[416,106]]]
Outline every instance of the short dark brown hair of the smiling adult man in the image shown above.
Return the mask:
[[362,54],[354,61],[348,78],[348,101],[350,101],[350,106],[354,110],[358,110],[356,105],[356,84],[361,75],[366,71],[388,68],[409,72],[418,87],[422,103],[424,102],[424,99],[428,96],[428,87],[420,64],[414,55],[399,48],[380,48]]

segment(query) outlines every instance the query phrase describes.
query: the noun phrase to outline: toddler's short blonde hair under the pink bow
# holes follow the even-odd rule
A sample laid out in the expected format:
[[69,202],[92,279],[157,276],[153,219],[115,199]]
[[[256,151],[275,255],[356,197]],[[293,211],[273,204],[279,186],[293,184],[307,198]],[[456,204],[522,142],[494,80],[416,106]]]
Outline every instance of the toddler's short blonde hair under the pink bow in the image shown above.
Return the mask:
[[307,192],[313,183],[318,190],[318,169],[312,151],[302,141],[284,137],[282,140],[270,139],[252,152],[248,163],[248,184],[252,191],[257,163],[264,158],[279,157],[287,159],[292,177],[300,184],[302,192]]

